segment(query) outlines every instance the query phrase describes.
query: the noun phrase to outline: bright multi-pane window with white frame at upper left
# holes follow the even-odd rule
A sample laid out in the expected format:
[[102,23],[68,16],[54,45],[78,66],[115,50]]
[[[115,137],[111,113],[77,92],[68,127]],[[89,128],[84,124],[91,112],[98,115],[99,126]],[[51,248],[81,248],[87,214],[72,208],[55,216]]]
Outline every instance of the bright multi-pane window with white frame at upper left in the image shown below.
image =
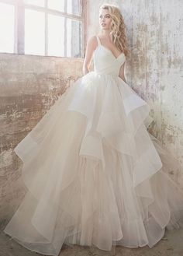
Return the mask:
[[0,52],[84,57],[85,0],[0,0]]

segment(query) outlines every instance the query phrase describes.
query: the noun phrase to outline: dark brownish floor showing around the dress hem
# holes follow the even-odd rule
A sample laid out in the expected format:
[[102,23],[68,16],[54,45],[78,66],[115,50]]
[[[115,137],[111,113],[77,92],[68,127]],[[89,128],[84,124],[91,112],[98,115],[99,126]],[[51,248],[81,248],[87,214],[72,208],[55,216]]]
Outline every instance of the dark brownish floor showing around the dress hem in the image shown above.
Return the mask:
[[[0,256],[43,256],[22,247],[16,241],[9,240],[4,232],[0,232]],[[107,251],[98,248],[63,245],[59,256],[111,256]],[[116,256],[183,256],[183,230],[165,231],[164,237],[153,247],[127,248],[116,246]]]

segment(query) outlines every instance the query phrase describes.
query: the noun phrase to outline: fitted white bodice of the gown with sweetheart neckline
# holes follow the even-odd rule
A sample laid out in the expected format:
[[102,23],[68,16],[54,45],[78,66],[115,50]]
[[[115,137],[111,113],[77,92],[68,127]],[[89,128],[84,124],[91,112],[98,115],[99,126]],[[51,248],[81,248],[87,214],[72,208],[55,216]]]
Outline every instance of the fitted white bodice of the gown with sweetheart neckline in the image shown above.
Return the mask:
[[119,75],[119,70],[123,63],[126,61],[124,53],[119,54],[116,58],[112,51],[107,47],[104,47],[99,37],[96,37],[98,40],[98,46],[94,51],[94,71],[98,74],[109,74],[109,75]]

